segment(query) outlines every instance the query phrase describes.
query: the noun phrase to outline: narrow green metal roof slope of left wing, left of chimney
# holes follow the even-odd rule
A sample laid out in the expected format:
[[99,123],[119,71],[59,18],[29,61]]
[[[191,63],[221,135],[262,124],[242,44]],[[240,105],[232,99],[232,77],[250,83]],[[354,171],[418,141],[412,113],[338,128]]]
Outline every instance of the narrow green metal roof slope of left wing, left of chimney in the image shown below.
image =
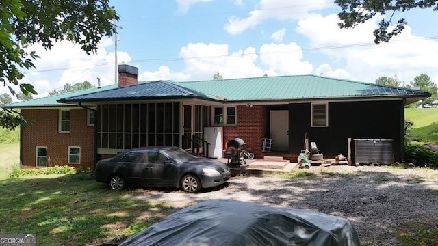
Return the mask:
[[[111,90],[118,87],[118,85],[107,85],[99,88],[90,88],[86,90],[79,90],[75,92],[67,92],[64,94],[57,94],[53,96],[45,96],[42,98],[34,98],[29,100],[23,100],[21,102],[11,102],[2,107],[5,108],[26,108],[26,107],[65,107],[69,106],[69,104],[57,102],[61,98],[66,98],[70,96],[78,96],[83,94],[89,94],[93,92],[101,92],[105,90]],[[77,104],[75,104],[77,105]]]

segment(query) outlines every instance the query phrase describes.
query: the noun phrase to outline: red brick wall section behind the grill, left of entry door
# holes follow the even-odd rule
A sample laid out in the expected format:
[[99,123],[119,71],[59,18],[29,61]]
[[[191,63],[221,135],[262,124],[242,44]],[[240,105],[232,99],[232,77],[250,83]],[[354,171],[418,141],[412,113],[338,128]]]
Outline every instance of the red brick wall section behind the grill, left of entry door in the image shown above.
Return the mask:
[[255,159],[263,158],[261,146],[263,138],[268,137],[268,113],[266,105],[253,107],[237,106],[237,126],[224,126],[224,144],[230,139],[240,137],[253,152]]

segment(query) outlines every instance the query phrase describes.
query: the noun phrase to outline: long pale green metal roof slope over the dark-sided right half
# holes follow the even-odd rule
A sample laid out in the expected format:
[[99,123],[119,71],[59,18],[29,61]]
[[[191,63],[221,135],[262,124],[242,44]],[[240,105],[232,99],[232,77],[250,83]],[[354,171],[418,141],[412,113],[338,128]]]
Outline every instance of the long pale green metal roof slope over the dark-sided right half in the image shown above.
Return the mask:
[[427,92],[315,75],[218,79],[177,82],[177,85],[229,101],[304,100],[373,96],[428,97]]

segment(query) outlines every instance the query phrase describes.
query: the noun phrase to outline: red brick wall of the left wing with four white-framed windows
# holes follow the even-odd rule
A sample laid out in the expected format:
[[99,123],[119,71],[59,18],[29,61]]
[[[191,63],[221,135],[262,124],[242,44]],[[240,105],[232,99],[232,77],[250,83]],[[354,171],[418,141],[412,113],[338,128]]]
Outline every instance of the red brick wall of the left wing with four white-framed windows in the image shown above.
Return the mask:
[[[23,168],[35,167],[36,147],[47,147],[47,166],[94,167],[94,127],[87,126],[86,109],[70,109],[70,133],[58,133],[59,109],[22,109],[34,125],[22,128]],[[81,164],[68,164],[68,146],[81,147]]]

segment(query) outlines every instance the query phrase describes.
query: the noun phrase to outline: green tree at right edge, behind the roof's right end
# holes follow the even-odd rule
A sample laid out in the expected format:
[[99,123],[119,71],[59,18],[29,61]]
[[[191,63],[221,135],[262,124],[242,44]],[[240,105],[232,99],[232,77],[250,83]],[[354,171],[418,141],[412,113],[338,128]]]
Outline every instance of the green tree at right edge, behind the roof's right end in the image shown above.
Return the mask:
[[418,75],[413,81],[411,81],[410,85],[407,85],[407,87],[430,92],[430,94],[432,94],[429,98],[416,102],[413,107],[435,107],[437,105],[438,87],[430,80],[430,77],[427,74]]

